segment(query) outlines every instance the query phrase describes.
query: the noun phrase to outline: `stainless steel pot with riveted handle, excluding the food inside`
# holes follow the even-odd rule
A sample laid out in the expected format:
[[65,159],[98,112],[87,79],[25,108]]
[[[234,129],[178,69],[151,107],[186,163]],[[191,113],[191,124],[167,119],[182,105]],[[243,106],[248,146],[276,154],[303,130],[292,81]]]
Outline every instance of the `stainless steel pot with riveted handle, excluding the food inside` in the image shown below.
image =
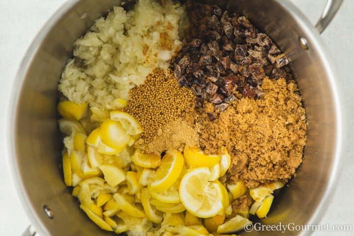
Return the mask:
[[[319,32],[331,21],[342,0],[328,0],[317,29],[288,0],[216,2],[248,16],[288,55],[307,111],[308,141],[303,164],[297,177],[276,198],[263,223],[317,224],[334,191],[342,142],[337,76]],[[9,162],[22,203],[42,236],[111,235],[89,222],[64,185],[56,103],[60,74],[72,55],[74,41],[95,19],[119,4],[119,0],[66,2],[33,41],[15,81],[8,122]],[[286,232],[286,235],[309,234]],[[29,228],[24,235],[33,232]]]

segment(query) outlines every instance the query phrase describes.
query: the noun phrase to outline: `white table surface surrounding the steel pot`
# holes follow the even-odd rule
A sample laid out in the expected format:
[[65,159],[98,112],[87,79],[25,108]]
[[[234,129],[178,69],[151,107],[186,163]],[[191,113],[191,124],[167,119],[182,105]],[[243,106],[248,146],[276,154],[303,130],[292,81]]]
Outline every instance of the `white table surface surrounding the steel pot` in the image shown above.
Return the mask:
[[[315,23],[325,0],[292,0]],[[64,0],[0,0],[0,235],[19,236],[30,224],[12,186],[5,158],[5,116],[12,81],[29,44],[48,18]],[[354,0],[345,0],[342,8],[322,37],[334,56],[340,72],[348,118],[354,117]],[[354,122],[348,119],[346,141],[354,143]],[[354,148],[344,153],[339,186],[321,224],[354,225]],[[314,236],[353,235],[346,232],[315,232]]]

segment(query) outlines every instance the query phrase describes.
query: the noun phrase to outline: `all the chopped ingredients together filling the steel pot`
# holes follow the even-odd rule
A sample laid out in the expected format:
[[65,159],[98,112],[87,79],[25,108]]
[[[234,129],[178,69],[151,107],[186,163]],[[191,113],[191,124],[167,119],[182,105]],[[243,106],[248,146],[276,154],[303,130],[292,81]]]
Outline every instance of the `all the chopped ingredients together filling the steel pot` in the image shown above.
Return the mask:
[[114,7],[62,73],[64,183],[102,230],[237,233],[302,162],[306,114],[285,54],[245,16],[185,6]]

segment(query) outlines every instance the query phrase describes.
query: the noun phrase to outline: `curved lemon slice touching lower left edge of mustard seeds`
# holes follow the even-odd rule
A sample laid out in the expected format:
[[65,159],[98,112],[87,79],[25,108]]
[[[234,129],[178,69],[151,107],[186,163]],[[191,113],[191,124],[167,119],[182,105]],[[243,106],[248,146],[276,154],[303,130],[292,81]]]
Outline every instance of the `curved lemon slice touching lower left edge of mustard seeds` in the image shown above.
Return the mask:
[[111,112],[111,119],[120,122],[126,132],[132,136],[143,133],[139,122],[126,112],[113,111]]

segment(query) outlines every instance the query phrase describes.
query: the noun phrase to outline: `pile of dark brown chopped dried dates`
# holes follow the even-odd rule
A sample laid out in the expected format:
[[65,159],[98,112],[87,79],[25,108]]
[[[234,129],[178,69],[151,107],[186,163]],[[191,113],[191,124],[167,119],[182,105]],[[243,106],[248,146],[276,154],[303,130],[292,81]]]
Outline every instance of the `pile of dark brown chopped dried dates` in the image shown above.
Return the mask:
[[262,97],[266,76],[291,79],[285,54],[245,16],[196,2],[187,10],[193,30],[173,69],[179,84],[198,97],[197,106],[206,100],[222,112],[237,97]]

